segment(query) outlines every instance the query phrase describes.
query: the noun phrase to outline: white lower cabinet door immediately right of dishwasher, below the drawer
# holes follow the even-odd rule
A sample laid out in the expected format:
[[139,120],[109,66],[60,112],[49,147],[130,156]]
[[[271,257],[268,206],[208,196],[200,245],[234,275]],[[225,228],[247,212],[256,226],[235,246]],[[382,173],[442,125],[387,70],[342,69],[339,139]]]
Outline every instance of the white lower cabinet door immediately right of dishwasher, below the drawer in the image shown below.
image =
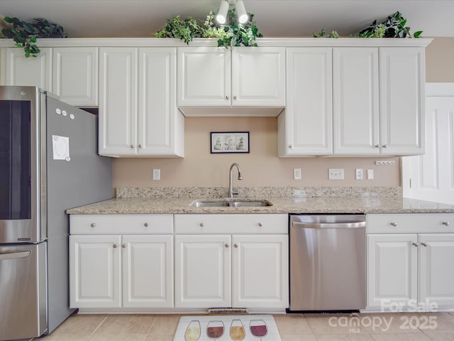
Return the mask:
[[367,235],[367,308],[416,300],[417,241],[416,234]]

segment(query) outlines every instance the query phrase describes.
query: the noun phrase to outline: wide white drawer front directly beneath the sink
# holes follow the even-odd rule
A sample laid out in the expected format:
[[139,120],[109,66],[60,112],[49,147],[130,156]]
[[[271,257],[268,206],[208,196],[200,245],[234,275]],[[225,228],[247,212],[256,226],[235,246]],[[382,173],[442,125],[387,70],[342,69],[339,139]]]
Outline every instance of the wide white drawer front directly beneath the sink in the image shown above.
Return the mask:
[[175,215],[177,234],[287,234],[288,215]]

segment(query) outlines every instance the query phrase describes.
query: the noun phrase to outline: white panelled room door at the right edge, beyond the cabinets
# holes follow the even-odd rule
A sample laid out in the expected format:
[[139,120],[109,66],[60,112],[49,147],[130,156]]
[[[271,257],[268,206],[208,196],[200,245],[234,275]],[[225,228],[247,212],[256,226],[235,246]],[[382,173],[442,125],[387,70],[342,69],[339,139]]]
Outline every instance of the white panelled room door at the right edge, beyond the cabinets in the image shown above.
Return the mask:
[[403,194],[454,205],[454,83],[427,83],[426,94],[426,154],[402,158]]

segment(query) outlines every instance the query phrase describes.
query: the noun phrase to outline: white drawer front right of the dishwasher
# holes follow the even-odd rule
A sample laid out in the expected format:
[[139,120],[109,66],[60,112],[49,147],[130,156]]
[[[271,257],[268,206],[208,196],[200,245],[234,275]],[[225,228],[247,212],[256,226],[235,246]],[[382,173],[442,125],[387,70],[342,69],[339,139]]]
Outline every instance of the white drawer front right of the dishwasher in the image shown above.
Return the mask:
[[367,215],[367,233],[454,232],[452,213]]

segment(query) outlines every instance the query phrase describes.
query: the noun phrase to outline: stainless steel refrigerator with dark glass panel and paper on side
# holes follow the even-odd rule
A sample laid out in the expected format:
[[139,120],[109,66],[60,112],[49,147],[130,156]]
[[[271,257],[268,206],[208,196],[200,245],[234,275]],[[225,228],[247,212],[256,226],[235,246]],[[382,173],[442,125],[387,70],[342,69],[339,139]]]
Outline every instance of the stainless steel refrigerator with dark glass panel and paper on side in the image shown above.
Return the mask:
[[65,210],[111,198],[97,117],[38,87],[0,87],[0,340],[48,334],[69,308]]

